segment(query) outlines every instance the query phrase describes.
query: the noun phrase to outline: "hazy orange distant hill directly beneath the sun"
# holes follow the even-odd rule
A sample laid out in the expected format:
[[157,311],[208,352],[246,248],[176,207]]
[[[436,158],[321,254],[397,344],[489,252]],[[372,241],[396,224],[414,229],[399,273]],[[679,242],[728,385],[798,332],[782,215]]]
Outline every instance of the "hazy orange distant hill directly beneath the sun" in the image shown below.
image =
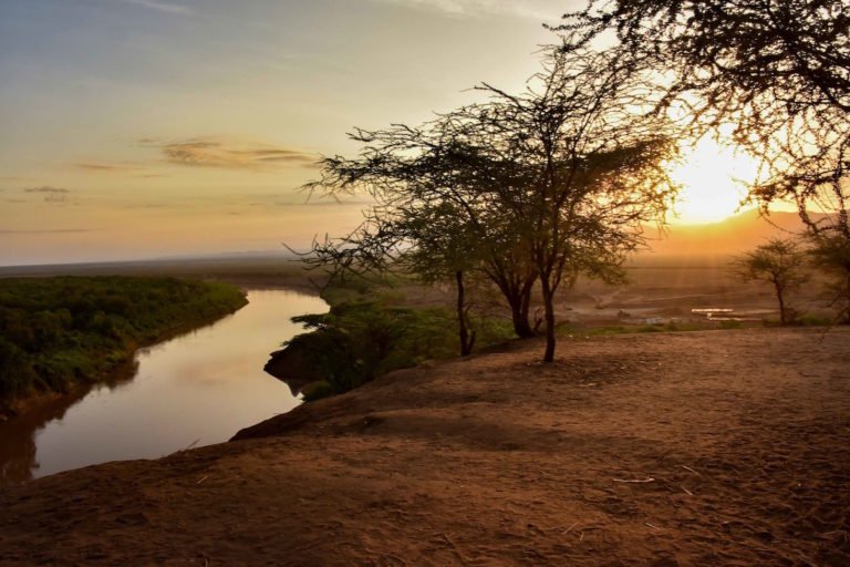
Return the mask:
[[725,262],[729,256],[764,244],[770,237],[789,238],[802,230],[796,213],[771,213],[766,219],[755,210],[708,225],[675,225],[666,235],[649,229],[652,251],[642,252],[636,264],[691,259]]

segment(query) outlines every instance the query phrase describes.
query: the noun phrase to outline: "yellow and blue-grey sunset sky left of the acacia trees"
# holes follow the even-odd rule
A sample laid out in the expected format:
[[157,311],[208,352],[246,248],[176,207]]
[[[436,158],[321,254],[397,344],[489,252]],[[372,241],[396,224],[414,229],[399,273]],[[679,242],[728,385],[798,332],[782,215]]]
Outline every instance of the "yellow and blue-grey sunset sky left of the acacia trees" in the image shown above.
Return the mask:
[[338,235],[362,203],[305,203],[319,154],[520,89],[577,4],[0,0],[0,265]]

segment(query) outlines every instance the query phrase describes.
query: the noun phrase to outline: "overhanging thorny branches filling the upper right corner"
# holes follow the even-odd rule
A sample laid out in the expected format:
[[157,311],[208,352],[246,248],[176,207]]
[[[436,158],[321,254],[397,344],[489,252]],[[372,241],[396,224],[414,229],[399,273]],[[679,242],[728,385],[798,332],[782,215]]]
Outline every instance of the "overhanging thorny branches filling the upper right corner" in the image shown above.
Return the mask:
[[621,56],[664,76],[656,110],[684,109],[693,135],[732,125],[761,163],[750,197],[766,214],[794,202],[836,285],[848,286],[847,0],[589,0],[554,29],[568,49],[613,32]]

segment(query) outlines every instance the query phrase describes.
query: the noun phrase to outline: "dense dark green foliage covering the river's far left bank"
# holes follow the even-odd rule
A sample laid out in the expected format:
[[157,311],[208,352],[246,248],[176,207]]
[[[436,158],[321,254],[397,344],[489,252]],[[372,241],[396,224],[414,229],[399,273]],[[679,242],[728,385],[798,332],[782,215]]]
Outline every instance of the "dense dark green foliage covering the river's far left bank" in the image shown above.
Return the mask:
[[0,401],[101,378],[141,344],[245,302],[232,286],[174,278],[0,280]]

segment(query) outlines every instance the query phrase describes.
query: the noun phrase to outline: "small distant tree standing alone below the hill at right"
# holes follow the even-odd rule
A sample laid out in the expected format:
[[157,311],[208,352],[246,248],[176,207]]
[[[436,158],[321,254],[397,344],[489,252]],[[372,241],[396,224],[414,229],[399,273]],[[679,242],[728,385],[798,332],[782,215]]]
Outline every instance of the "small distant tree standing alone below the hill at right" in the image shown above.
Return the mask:
[[774,287],[779,303],[779,322],[792,321],[788,307],[788,292],[798,289],[806,280],[806,255],[794,240],[773,238],[756,249],[735,259],[734,270],[744,281],[765,281]]

